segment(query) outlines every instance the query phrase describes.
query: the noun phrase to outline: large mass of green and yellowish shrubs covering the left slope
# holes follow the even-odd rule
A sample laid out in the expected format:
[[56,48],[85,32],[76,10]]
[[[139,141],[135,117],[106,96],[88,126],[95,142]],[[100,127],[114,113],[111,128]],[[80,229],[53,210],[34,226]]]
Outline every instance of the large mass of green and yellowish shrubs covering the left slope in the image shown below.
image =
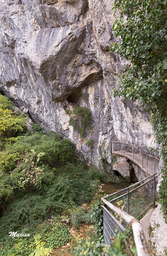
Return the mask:
[[[77,218],[90,221],[79,205],[90,202],[105,177],[74,157],[70,140],[37,124],[27,131],[27,116],[14,114],[2,95],[0,107],[0,255],[49,255],[69,240],[63,218],[70,209],[74,225]],[[11,231],[30,237],[10,237]]]

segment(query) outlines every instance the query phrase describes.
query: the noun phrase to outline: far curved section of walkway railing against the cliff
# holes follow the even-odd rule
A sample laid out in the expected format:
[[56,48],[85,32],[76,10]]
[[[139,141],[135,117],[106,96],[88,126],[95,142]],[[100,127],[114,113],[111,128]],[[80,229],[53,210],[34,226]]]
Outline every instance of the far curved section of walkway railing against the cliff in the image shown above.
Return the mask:
[[112,153],[127,157],[148,175],[157,172],[159,159],[141,152],[138,148],[125,142],[113,141]]

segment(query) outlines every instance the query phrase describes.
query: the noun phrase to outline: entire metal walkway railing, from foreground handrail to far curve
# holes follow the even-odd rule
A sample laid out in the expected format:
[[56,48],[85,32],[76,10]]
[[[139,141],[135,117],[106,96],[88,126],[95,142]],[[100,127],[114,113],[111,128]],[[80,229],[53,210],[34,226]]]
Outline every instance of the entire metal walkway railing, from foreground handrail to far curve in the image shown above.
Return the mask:
[[[116,238],[118,231],[121,233],[130,225],[133,231],[137,255],[148,256],[148,245],[138,219],[144,215],[149,207],[152,205],[155,206],[155,202],[158,198],[156,192],[157,172],[155,171],[157,170],[159,159],[142,153],[140,150],[127,143],[112,143],[112,153],[122,155],[122,151],[123,155],[129,159],[132,158],[133,162],[138,161],[137,165],[139,167],[142,165],[143,168],[141,169],[145,171],[149,177],[138,181],[128,188],[102,197],[102,202],[105,204],[105,206],[103,206],[104,241],[106,245],[110,246],[111,243],[113,243],[111,238]],[[152,171],[152,168],[154,171]]]

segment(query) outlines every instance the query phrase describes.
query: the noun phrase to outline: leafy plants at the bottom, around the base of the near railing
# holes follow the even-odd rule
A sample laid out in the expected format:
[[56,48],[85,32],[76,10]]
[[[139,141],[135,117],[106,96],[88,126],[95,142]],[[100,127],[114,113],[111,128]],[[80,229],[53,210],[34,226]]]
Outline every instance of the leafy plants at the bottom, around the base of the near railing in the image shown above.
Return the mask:
[[73,249],[73,256],[104,255],[108,256],[135,256],[136,246],[133,239],[132,229],[128,227],[121,234],[118,232],[113,238],[113,244],[106,246],[103,239],[103,210],[102,201],[99,198],[90,209],[90,221],[94,223],[95,233],[89,233],[86,239],[78,238]]

